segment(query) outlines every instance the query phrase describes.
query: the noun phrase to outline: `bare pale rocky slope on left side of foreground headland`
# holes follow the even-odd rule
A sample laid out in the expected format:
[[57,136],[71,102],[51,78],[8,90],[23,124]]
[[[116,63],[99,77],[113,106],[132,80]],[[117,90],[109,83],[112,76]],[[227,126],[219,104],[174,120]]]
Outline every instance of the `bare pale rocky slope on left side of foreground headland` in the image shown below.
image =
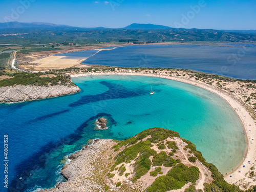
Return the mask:
[[102,167],[110,166],[110,149],[116,143],[111,139],[94,140],[94,143],[75,153],[70,158],[73,160],[63,166],[61,174],[68,179],[67,182],[59,183],[55,188],[42,189],[39,192],[94,192],[105,191],[101,180],[105,173]]

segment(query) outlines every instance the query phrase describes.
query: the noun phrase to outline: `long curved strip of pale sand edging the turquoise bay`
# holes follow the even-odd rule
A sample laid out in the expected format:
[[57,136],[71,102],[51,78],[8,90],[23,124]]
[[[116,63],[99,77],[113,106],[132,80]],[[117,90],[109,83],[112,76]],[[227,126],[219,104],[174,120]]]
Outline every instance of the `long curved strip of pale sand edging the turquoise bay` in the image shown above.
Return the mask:
[[[245,109],[245,107],[236,99],[238,98],[233,98],[229,95],[227,95],[226,93],[224,93],[223,91],[217,90],[214,87],[210,86],[209,84],[206,84],[204,82],[196,82],[194,80],[191,79],[187,79],[187,78],[182,78],[182,77],[172,77],[172,76],[166,76],[166,75],[160,75],[160,74],[144,74],[144,73],[135,73],[135,72],[131,72],[131,73],[125,73],[125,72],[120,72],[120,73],[110,73],[110,72],[106,72],[106,73],[87,73],[87,74],[70,74],[70,76],[72,78],[75,77],[82,77],[82,76],[94,76],[94,75],[130,75],[130,76],[149,76],[149,77],[158,77],[158,78],[165,78],[165,79],[170,79],[170,80],[175,80],[175,81],[179,81],[179,82],[183,82],[183,83],[187,83],[187,84],[191,84],[193,86],[196,87],[200,87],[202,89],[205,89],[207,91],[210,91],[218,96],[220,96],[222,99],[224,99],[230,106],[231,108],[236,112],[237,116],[240,119],[240,122],[243,125],[243,131],[245,134],[245,138],[246,138],[246,151],[245,151],[245,155],[243,160],[240,162],[240,164],[236,167],[233,168],[232,172],[227,173],[224,178],[227,182],[234,184],[239,182],[239,180],[241,179],[248,179],[248,177],[245,176],[245,174],[250,171],[250,166],[247,165],[254,165],[254,162],[252,162],[253,159],[255,159],[255,154],[254,152],[256,151],[256,145],[255,143],[250,143],[249,141],[252,140],[252,138],[256,138],[256,126],[254,123],[254,120],[252,119],[250,113]],[[235,110],[238,109],[238,110]],[[253,130],[253,132],[252,132]],[[248,164],[247,162],[251,161],[251,164]],[[245,167],[242,167],[242,165],[246,165]],[[238,171],[241,170],[242,173],[238,173]],[[232,177],[230,177],[230,175],[232,175]],[[253,180],[251,179],[250,182],[253,182]],[[255,183],[255,182],[253,182]]]

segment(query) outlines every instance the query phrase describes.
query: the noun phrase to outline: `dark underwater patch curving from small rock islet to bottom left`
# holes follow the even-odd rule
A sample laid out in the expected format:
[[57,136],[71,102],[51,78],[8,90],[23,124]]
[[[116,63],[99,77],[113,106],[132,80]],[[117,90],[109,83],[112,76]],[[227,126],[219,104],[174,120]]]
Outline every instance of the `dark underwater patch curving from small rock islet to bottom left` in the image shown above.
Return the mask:
[[[66,110],[64,110],[66,111]],[[62,111],[62,113],[65,113]],[[15,178],[10,182],[9,185],[9,191],[26,191],[27,189],[31,188],[32,186],[30,185],[30,177],[32,176],[31,174],[33,171],[38,171],[40,168],[45,168],[46,163],[50,163],[50,160],[48,159],[49,154],[52,152],[55,152],[58,147],[61,145],[72,145],[76,141],[82,138],[82,134],[84,134],[84,129],[87,129],[89,126],[89,123],[92,121],[100,118],[100,117],[106,117],[108,118],[109,122],[111,125],[116,125],[116,121],[112,118],[112,115],[106,114],[106,113],[99,113],[84,123],[82,123],[77,129],[75,130],[75,133],[68,135],[67,137],[63,137],[62,139],[59,139],[56,142],[49,142],[46,145],[42,146],[38,152],[34,153],[30,157],[28,157],[26,160],[23,162],[20,162],[16,167],[15,167],[15,173],[16,176]],[[86,130],[90,131],[90,130]],[[94,131],[93,128],[91,128],[91,131]],[[108,131],[108,130],[106,130]],[[95,131],[101,132],[101,131]],[[111,137],[113,134],[110,133],[109,131],[109,137]],[[91,138],[95,139],[95,138]],[[40,178],[40,183],[44,183],[44,181],[47,181],[47,177]],[[43,188],[46,188],[46,186],[42,186]],[[53,186],[52,186],[53,187]]]

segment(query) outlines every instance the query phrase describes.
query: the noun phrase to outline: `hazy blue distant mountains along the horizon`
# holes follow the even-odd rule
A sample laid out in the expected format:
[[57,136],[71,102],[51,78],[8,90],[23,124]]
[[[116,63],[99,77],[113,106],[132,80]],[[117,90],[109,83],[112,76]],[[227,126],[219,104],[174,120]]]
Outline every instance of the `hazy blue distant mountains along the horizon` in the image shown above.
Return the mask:
[[[95,27],[95,28],[81,28],[81,27],[73,27],[68,25],[56,25],[51,23],[42,23],[42,22],[32,22],[32,23],[19,23],[19,22],[7,22],[0,23],[0,29],[20,29],[20,28],[47,28],[47,29],[63,29],[63,28],[79,28],[79,29],[91,29],[91,30],[108,30],[111,28],[104,27]],[[154,24],[131,24],[124,28],[117,29],[126,29],[126,30],[181,30],[178,28],[171,28],[163,25],[154,25]],[[185,30],[185,29],[182,29]],[[256,30],[221,30],[228,32],[237,32],[237,33],[256,33]]]

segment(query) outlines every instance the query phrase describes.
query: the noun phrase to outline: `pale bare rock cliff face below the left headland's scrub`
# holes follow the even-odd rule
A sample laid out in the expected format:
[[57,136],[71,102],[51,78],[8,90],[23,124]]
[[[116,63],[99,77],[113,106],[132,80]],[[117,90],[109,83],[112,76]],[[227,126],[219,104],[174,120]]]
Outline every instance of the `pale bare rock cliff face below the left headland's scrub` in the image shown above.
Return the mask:
[[14,86],[0,88],[0,102],[22,102],[77,93],[77,86]]

